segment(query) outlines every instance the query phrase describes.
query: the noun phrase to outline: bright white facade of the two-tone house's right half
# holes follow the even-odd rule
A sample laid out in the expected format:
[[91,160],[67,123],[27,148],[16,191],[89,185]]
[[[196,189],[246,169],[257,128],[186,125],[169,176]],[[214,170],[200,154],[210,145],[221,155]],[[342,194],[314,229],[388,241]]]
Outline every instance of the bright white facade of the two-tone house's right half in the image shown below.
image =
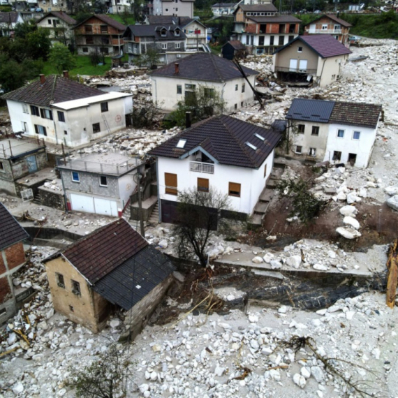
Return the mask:
[[[344,138],[337,137],[337,131],[344,130]],[[330,124],[324,161],[332,161],[334,151],[341,152],[337,163],[347,163],[348,154],[356,154],[356,167],[367,167],[376,140],[377,128],[355,127],[344,124]],[[353,132],[360,131],[360,139],[353,140]]]

